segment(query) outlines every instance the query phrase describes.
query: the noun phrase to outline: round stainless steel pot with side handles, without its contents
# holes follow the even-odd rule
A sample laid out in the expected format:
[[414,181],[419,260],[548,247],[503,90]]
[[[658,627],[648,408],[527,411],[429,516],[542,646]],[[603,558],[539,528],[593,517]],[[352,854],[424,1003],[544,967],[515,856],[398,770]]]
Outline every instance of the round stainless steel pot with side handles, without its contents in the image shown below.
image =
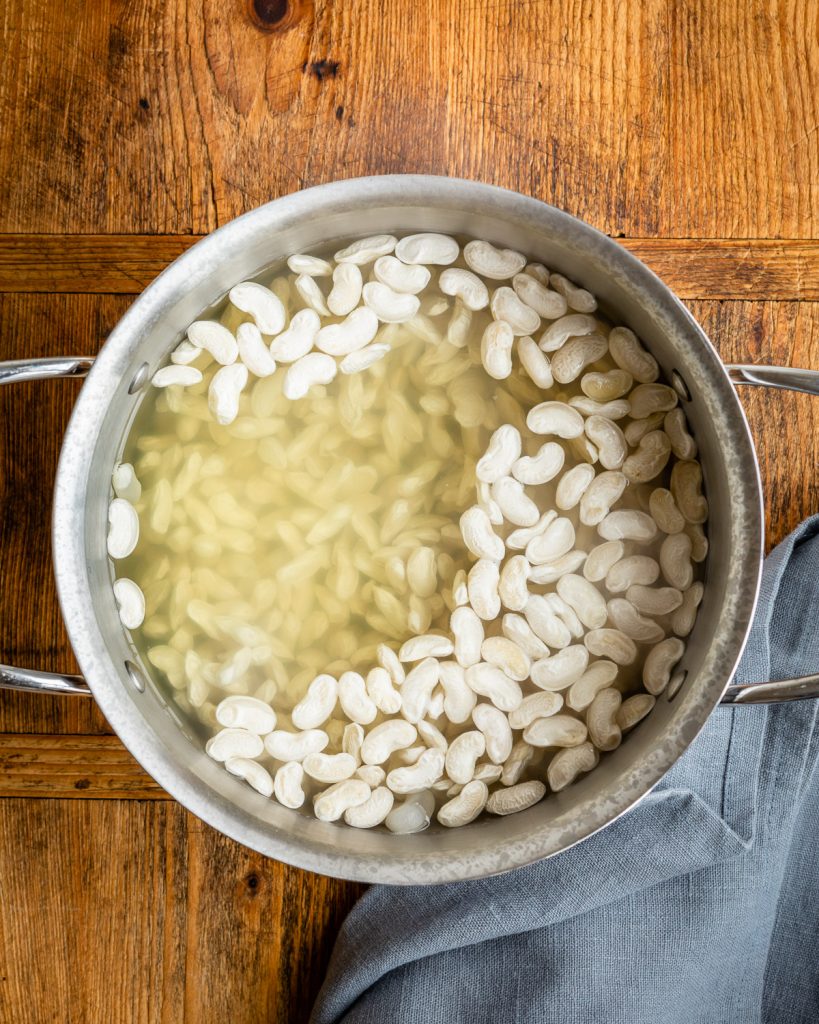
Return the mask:
[[[440,230],[529,254],[589,288],[631,326],[681,394],[710,503],[705,595],[685,683],[601,766],[522,814],[460,829],[391,836],[328,824],[265,800],[228,775],[154,685],[123,632],[105,554],[112,469],[150,375],[200,311],[291,253],[380,231]],[[0,380],[82,376],[62,444],[52,541],[60,605],[90,692],[142,767],[214,828],[279,860],[364,882],[479,878],[565,850],[613,821],[672,767],[720,702],[819,694],[819,676],[731,686],[757,601],[763,555],[759,467],[736,383],[819,394],[819,373],[726,369],[689,312],[639,260],[574,217],[471,181],[360,178],[260,207],[204,239],[134,302],[91,359],[7,364]],[[0,685],[88,692],[82,679],[0,667]]]

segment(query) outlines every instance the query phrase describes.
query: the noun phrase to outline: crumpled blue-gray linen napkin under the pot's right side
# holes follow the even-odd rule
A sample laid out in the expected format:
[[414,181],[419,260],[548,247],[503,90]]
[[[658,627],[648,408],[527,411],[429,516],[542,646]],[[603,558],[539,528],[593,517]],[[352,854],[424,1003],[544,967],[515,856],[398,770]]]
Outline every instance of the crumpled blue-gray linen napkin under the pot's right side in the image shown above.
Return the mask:
[[[767,559],[737,679],[819,671],[819,516]],[[370,889],[313,1024],[817,1024],[819,701],[719,708],[634,810],[500,878]]]

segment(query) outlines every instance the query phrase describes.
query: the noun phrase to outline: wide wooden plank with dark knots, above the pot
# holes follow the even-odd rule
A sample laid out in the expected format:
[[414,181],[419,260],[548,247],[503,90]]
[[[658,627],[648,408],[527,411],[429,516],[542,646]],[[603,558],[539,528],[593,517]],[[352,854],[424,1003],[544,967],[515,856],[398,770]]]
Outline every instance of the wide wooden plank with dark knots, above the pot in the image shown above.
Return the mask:
[[5,5],[0,230],[200,233],[413,170],[613,236],[817,234],[816,4],[290,6]]

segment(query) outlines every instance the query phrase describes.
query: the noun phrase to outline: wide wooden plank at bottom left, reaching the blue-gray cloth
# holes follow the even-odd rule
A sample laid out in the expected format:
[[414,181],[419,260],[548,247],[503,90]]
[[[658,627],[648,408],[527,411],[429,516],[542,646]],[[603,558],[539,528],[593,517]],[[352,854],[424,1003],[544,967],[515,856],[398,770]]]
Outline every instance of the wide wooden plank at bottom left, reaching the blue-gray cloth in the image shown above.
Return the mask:
[[0,801],[0,1020],[306,1021],[361,886],[172,802]]

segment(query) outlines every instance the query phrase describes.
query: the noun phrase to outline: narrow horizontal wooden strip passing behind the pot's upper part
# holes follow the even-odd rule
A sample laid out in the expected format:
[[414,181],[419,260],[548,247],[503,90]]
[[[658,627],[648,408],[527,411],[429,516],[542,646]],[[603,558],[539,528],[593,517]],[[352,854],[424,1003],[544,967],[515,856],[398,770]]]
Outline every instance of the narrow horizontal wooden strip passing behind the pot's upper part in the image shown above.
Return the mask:
[[[0,292],[138,295],[201,236],[0,234]],[[819,299],[819,242],[617,239],[683,299]]]

